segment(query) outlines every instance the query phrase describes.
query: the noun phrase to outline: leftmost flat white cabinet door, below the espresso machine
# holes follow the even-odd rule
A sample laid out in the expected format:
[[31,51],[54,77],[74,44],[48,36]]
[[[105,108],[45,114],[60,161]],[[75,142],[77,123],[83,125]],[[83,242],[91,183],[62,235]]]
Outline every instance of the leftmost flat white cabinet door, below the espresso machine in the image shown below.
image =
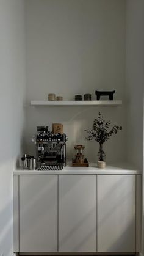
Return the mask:
[[57,252],[57,175],[20,176],[20,252]]

